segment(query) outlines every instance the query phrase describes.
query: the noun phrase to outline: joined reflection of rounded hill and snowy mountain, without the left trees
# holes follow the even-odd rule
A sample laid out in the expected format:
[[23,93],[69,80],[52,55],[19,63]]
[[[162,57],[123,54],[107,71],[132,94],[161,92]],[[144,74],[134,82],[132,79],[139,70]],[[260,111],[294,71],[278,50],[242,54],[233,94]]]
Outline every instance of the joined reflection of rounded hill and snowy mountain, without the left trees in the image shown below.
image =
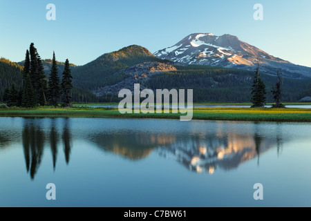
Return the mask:
[[[221,131],[211,133],[149,133],[142,131],[104,131],[89,138],[104,151],[113,152],[129,160],[147,157],[153,150],[167,159],[176,160],[197,173],[214,173],[216,169],[230,170],[241,163],[260,156],[268,149],[283,144],[280,124],[276,125],[276,137],[265,137],[261,123],[254,123],[252,131]],[[225,131],[225,132],[224,132]]]

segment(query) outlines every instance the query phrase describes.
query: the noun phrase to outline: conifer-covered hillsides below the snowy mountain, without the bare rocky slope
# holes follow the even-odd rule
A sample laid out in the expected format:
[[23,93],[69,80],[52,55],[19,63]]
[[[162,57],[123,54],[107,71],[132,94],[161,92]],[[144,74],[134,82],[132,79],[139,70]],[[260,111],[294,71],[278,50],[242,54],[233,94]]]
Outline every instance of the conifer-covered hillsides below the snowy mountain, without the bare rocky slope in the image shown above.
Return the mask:
[[[42,60],[46,77],[50,73],[51,60]],[[181,65],[169,60],[159,59],[147,48],[129,46],[116,52],[100,56],[84,66],[70,64],[73,75],[73,102],[118,102],[117,94],[105,94],[96,97],[92,91],[109,87],[122,82],[134,74],[144,62],[162,62],[175,66],[177,70],[167,73],[151,74],[142,81],[144,87],[153,90],[160,88],[191,88],[194,89],[194,102],[250,102],[254,71],[238,70],[200,65]],[[20,64],[23,64],[21,62]],[[59,77],[64,70],[64,64],[57,62]],[[21,86],[22,67],[7,59],[0,62],[0,101],[4,88],[14,82],[15,88]],[[131,73],[129,73],[131,72]],[[260,70],[261,72],[261,70]],[[134,76],[135,77],[135,76]],[[272,86],[276,84],[276,75],[261,74],[267,88],[267,102],[272,102]],[[83,88],[83,89],[81,89]],[[113,88],[112,88],[113,89]],[[303,97],[311,96],[311,79],[293,79],[284,77],[283,102],[297,102]]]

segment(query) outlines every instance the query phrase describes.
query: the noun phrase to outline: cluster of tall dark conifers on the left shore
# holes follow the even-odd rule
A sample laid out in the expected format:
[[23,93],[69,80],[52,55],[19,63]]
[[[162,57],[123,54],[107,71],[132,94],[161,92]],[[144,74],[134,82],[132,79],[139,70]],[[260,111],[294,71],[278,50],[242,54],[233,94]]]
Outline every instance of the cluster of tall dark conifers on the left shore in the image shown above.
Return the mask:
[[46,79],[41,57],[32,43],[29,50],[26,50],[21,89],[17,90],[14,84],[11,88],[6,88],[3,93],[3,102],[6,102],[8,106],[26,108],[57,106],[59,101],[62,101],[62,106],[71,106],[72,79],[70,64],[66,59],[62,83],[60,83],[55,52],[53,52],[53,66]]

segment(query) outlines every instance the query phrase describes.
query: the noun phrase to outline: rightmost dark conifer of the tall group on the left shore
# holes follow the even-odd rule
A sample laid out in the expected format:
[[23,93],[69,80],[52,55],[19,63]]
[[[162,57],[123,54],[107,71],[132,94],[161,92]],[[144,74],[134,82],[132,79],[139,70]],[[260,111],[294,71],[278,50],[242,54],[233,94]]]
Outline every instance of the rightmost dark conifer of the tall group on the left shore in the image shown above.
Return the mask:
[[72,83],[73,76],[71,75],[69,61],[66,59],[65,68],[62,78],[62,105],[71,106],[71,89],[73,88]]

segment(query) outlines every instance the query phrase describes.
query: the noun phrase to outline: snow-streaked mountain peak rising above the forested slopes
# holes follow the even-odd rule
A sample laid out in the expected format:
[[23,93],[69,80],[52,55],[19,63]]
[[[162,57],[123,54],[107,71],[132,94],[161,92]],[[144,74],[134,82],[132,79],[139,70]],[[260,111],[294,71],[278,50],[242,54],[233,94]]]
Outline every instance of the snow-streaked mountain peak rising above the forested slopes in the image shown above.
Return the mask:
[[156,51],[153,55],[182,64],[246,70],[254,70],[259,60],[261,71],[265,73],[274,74],[276,68],[281,68],[283,74],[288,77],[311,77],[311,68],[273,57],[233,35],[195,33],[188,35],[174,46]]

